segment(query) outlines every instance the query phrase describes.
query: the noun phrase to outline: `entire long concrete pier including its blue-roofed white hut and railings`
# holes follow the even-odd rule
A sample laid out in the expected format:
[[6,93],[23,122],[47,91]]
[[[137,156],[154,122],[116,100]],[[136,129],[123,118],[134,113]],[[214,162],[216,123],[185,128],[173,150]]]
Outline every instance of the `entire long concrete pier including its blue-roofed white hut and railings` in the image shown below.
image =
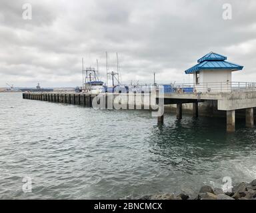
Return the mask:
[[[115,94],[112,91],[112,93],[106,92],[98,95],[93,93],[23,93],[23,99],[93,107],[94,98],[97,97],[96,103],[99,108],[113,109],[117,105],[119,108],[115,109],[136,110],[156,110],[156,106],[160,107],[159,100],[161,99],[163,105],[176,105],[178,120],[182,119],[185,104],[193,106],[193,117],[197,118],[201,114],[203,105],[209,103],[208,114],[210,116],[214,116],[214,112],[225,112],[227,132],[235,132],[235,112],[241,109],[245,110],[246,126],[252,128],[256,107],[256,83],[232,82],[232,72],[242,70],[243,66],[230,63],[226,59],[227,57],[223,55],[208,53],[197,61],[197,65],[185,71],[186,74],[193,75],[193,83],[180,85],[154,83],[150,89],[155,89],[153,92],[157,94],[155,97],[152,96],[153,93],[149,88],[145,92],[145,86],[141,85],[144,89],[131,91],[131,93],[130,91],[121,94]],[[160,113],[157,116],[157,123],[163,124],[164,114]]]

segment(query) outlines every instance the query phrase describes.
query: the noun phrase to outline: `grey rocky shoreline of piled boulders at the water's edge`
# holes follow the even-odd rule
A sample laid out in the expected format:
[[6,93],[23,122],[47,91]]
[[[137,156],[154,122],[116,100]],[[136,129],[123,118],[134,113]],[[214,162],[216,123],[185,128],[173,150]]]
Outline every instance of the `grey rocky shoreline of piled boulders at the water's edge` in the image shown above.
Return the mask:
[[202,186],[198,194],[155,194],[143,196],[139,200],[256,200],[256,179],[252,182],[241,182],[232,188],[232,192],[223,192],[221,188]]

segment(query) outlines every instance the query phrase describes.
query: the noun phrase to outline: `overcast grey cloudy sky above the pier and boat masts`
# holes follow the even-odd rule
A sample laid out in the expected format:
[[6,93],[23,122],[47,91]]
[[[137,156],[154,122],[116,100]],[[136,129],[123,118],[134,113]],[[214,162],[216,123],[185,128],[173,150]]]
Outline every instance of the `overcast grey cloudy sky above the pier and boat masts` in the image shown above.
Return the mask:
[[152,83],[154,71],[159,83],[191,81],[185,69],[210,51],[244,66],[233,81],[256,82],[255,14],[255,0],[1,0],[0,87],[81,86],[82,57],[85,67],[99,60],[105,81],[105,51],[111,70],[119,53],[123,83]]

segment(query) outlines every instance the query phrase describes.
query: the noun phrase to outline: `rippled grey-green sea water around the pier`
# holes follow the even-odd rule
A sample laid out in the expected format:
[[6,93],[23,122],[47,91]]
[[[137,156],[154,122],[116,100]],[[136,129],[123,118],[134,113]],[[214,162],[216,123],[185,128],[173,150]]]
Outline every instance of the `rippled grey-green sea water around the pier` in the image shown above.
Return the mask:
[[[0,198],[107,199],[193,194],[256,178],[256,130],[225,118],[176,120],[157,126],[141,110],[95,110],[0,93]],[[23,192],[23,177],[32,192]]]

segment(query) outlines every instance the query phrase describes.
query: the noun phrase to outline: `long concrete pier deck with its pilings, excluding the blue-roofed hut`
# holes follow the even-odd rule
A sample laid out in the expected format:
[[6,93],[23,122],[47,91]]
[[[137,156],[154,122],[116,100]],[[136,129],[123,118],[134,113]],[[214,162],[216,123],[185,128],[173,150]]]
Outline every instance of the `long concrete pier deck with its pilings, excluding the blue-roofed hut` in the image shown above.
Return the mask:
[[[115,95],[121,95],[122,100],[114,100]],[[150,94],[101,94],[99,108],[113,108],[113,105],[120,104],[125,100],[122,109],[146,109],[151,110],[151,103],[159,102],[158,96],[151,101]],[[83,105],[85,107],[93,106],[95,94],[85,93],[23,93],[23,99],[32,99],[39,101],[49,101],[53,103],[67,103],[71,105]],[[103,99],[102,99],[103,97]],[[254,108],[256,107],[256,91],[232,92],[232,93],[167,93],[164,94],[164,105],[176,105],[177,119],[182,119],[183,104],[193,104],[193,116],[200,115],[199,103],[209,102],[217,103],[215,110],[225,111],[227,117],[227,132],[235,132],[235,110],[245,109],[246,126],[254,126]],[[110,105],[109,105],[110,103]],[[145,104],[147,103],[147,104]],[[106,107],[107,106],[107,107]],[[214,105],[209,107],[213,111]],[[155,109],[155,106],[153,107]],[[211,113],[211,112],[210,112]],[[164,115],[157,118],[159,124],[163,123]]]

